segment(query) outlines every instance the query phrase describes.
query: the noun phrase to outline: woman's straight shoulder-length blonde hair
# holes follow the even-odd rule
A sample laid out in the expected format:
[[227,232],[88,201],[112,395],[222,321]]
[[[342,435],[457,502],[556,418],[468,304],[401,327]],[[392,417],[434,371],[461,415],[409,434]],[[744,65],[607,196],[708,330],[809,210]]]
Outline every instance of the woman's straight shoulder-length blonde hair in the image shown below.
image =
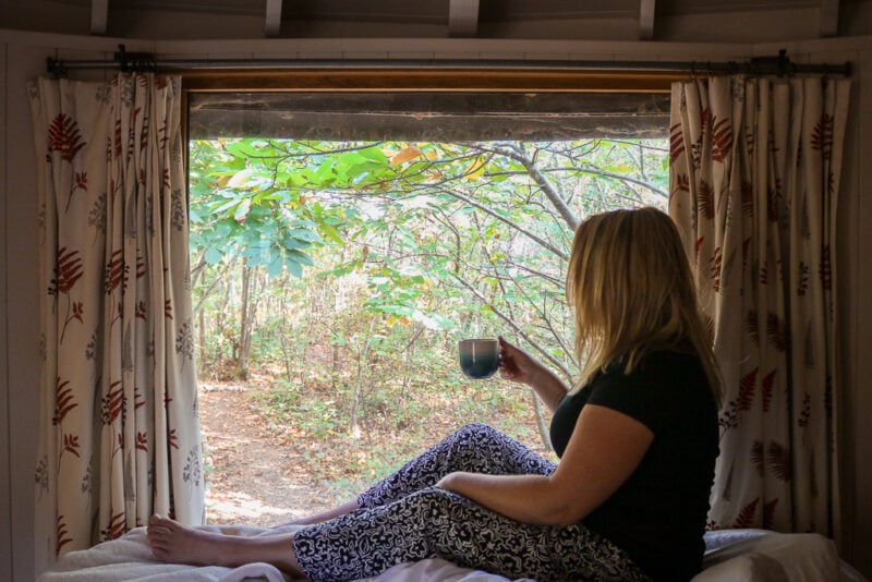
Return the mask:
[[720,376],[693,276],[665,213],[614,210],[579,225],[566,294],[576,314],[576,355],[584,362],[576,390],[610,364],[629,374],[651,351],[692,348],[719,402]]

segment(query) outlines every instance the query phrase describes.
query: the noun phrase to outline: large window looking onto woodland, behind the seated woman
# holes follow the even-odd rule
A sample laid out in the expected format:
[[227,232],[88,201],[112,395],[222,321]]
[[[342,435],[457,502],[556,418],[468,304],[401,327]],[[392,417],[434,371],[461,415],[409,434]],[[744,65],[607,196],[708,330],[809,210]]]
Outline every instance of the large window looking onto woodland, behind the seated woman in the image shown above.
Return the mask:
[[642,93],[192,94],[209,520],[330,506],[473,421],[547,454],[532,395],[464,378],[457,340],[571,377],[572,230],[665,208],[667,119]]

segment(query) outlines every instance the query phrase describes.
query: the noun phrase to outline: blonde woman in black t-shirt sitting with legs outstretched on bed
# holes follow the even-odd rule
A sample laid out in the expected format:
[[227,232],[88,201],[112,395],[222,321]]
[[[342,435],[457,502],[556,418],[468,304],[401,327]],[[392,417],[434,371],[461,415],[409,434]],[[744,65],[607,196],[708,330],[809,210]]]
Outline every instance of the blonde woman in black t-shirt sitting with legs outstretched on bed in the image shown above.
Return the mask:
[[671,220],[653,208],[579,226],[567,272],[569,389],[500,338],[504,378],[554,412],[554,464],[485,425],[461,428],[293,534],[235,537],[154,517],[165,561],[271,562],[313,580],[441,557],[508,578],[689,580],[702,565],[718,375]]

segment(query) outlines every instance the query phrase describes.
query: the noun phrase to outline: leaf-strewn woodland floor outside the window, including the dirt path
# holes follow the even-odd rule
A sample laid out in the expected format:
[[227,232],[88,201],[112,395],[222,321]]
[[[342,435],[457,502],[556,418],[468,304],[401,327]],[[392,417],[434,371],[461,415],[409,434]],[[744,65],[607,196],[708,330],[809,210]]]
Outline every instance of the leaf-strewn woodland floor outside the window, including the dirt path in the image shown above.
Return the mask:
[[[417,427],[426,435],[424,442],[409,438],[402,427],[358,439],[338,434],[313,438],[301,427],[277,425],[258,413],[251,397],[269,389],[269,377],[198,384],[210,524],[272,526],[325,511],[374,482],[374,465],[398,468],[424,446],[476,420],[462,407],[433,401],[425,402],[427,412],[416,423],[426,425]],[[477,389],[468,388],[473,393]],[[535,428],[519,428],[535,427],[532,408],[492,413],[487,422],[546,454]]]

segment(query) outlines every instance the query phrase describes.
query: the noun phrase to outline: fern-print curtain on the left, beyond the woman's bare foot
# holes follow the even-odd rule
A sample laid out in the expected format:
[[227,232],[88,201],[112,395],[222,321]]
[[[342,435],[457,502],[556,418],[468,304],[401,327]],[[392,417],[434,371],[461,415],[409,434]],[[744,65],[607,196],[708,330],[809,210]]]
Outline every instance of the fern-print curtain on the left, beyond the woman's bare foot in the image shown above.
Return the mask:
[[41,245],[37,561],[202,523],[180,80],[29,86]]

